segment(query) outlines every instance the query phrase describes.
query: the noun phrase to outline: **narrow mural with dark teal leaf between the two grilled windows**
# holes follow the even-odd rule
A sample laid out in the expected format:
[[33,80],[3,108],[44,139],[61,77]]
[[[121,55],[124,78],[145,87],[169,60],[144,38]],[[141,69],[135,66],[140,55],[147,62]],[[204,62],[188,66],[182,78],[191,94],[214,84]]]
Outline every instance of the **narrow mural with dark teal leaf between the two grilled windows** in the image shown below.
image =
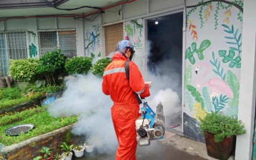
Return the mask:
[[29,55],[30,58],[37,58],[38,57],[38,49],[36,47],[37,40],[36,33],[33,31],[28,31],[28,47],[29,47]]

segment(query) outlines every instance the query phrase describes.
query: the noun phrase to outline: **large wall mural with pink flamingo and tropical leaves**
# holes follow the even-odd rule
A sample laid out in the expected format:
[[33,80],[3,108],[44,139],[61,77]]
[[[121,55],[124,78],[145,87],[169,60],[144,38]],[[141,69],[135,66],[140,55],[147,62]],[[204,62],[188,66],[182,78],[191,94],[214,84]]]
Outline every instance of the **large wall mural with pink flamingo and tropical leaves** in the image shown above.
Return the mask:
[[199,118],[237,116],[243,1],[186,1],[184,134],[204,142]]

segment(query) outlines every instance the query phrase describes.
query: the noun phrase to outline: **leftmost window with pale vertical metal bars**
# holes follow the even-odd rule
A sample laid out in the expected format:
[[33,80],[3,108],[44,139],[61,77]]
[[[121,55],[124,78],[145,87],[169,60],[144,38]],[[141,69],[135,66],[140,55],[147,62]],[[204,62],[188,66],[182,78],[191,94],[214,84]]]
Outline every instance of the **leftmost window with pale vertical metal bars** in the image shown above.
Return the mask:
[[9,60],[28,58],[26,31],[0,33],[0,75],[9,73]]

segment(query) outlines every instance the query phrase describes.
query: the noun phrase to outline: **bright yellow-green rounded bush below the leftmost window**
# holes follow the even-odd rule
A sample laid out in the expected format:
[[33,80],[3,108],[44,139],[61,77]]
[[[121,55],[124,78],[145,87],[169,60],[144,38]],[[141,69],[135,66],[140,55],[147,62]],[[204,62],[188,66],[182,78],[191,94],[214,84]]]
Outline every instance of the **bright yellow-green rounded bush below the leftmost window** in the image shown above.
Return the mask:
[[34,81],[38,63],[38,60],[31,58],[10,60],[10,76],[22,82]]

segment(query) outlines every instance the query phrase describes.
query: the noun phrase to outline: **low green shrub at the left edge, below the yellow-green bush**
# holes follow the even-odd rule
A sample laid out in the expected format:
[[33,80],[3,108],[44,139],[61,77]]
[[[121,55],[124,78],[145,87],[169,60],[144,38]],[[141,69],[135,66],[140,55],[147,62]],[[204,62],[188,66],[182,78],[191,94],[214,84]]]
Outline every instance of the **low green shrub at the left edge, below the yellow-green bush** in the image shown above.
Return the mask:
[[0,100],[14,100],[20,97],[22,97],[22,92],[19,90],[18,87],[0,89]]

